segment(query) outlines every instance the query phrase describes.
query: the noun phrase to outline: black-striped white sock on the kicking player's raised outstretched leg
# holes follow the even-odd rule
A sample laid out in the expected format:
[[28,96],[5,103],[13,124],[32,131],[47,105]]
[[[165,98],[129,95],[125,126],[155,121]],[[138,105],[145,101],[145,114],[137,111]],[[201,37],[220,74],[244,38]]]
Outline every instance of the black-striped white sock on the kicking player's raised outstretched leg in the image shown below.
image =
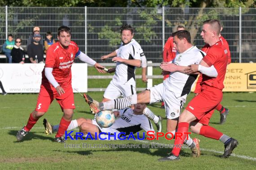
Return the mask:
[[117,98],[108,102],[103,102],[103,109],[102,103],[100,103],[99,107],[101,110],[124,109],[134,104],[137,104],[137,94],[133,94],[125,98]]

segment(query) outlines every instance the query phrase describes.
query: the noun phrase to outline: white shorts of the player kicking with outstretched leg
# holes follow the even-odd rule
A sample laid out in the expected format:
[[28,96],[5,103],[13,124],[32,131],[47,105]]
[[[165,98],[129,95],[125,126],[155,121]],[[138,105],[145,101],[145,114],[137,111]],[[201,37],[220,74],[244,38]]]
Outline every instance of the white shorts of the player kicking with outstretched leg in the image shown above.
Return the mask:
[[176,119],[180,116],[181,108],[185,103],[183,98],[176,98],[175,94],[166,89],[163,83],[147,89],[150,90],[150,104],[164,102],[166,118]]

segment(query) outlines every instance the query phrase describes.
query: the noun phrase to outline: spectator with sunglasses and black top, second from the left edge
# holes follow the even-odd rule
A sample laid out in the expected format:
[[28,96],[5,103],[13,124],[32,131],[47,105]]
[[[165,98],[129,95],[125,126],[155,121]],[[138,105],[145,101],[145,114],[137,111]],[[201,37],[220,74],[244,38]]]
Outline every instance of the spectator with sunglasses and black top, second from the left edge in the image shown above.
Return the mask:
[[20,63],[20,64],[25,63],[25,52],[21,47],[21,43],[22,43],[21,38],[15,39],[15,45],[11,51],[13,63]]

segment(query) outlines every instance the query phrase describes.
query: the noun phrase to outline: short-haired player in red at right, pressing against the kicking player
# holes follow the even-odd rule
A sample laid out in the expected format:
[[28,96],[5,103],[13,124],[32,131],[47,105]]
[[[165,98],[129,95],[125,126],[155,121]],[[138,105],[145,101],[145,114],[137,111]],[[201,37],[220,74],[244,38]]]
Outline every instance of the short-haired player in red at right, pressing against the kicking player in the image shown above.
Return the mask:
[[[184,69],[187,74],[203,73],[201,93],[189,102],[179,118],[177,132],[181,132],[183,136],[174,141],[172,153],[167,157],[160,158],[159,161],[175,161],[180,159],[181,147],[178,146],[183,144],[186,137],[184,132],[188,132],[189,126],[191,132],[223,142],[225,146],[223,158],[229,157],[233,149],[238,145],[237,140],[226,136],[208,125],[214,108],[222,99],[223,81],[228,64],[228,52],[219,38],[220,30],[221,25],[218,20],[203,22],[201,36],[204,42],[209,44],[209,51],[203,57],[200,64],[193,64]],[[218,73],[216,78],[204,74],[209,72],[208,68],[212,65]]]

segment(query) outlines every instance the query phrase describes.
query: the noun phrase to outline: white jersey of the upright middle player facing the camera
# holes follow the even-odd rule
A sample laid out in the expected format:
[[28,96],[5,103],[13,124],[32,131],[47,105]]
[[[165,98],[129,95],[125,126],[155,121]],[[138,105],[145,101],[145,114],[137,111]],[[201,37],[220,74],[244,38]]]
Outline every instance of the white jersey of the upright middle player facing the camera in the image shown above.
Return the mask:
[[[139,59],[141,55],[144,55],[141,46],[134,40],[128,44],[121,46],[116,50],[117,57],[122,59]],[[128,65],[122,62],[116,62],[115,75],[113,76],[112,82],[114,84],[127,84],[136,86],[135,82],[135,66]]]

